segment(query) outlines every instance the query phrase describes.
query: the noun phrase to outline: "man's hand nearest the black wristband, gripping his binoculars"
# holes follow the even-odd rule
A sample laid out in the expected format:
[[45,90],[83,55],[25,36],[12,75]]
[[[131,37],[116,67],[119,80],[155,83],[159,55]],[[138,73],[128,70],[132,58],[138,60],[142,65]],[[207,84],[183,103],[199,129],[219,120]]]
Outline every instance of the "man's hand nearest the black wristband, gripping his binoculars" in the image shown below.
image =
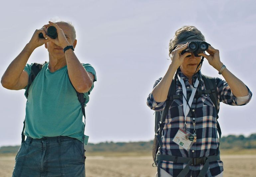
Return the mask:
[[62,48],[65,48],[66,46],[70,45],[70,43],[66,39],[66,36],[65,36],[63,30],[60,29],[60,27],[56,23],[49,21],[49,24],[44,25],[44,28],[48,28],[50,26],[54,26],[56,28],[58,37],[53,39],[53,38],[49,37],[48,35],[46,35],[46,37],[48,38],[49,41],[52,41],[53,43],[55,43],[56,45],[58,45]]

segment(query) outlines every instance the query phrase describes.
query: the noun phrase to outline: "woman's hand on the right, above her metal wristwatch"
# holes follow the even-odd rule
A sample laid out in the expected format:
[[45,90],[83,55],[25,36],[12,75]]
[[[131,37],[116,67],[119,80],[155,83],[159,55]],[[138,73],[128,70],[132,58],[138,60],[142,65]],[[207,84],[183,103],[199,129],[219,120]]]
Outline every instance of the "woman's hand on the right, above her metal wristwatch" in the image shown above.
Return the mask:
[[206,51],[209,53],[209,55],[206,55],[204,53],[199,53],[198,55],[206,58],[209,64],[217,71],[219,71],[220,68],[223,66],[223,63],[220,61],[219,58],[219,50],[209,45],[209,48]]

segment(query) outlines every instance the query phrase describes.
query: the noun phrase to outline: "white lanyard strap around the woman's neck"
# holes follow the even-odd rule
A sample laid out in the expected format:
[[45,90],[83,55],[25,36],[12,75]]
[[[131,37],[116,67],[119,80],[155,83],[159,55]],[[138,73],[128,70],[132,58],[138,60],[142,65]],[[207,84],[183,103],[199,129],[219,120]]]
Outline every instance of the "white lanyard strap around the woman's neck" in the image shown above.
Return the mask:
[[195,96],[195,92],[196,92],[196,89],[198,87],[198,84],[199,84],[199,81],[198,79],[196,79],[195,81],[195,84],[194,84],[194,87],[192,87],[192,93],[191,93],[191,96],[189,98],[189,101],[187,102],[186,98],[187,98],[187,90],[186,90],[186,86],[185,86],[185,83],[183,81],[183,79],[180,78],[180,76],[178,76],[179,78],[179,81],[182,85],[182,92],[183,92],[183,112],[184,112],[184,119],[185,119],[185,128],[186,128],[186,120],[187,120],[187,115],[189,113],[189,110],[190,110],[190,107],[191,107],[191,104],[192,104],[192,101],[194,99],[194,96]]

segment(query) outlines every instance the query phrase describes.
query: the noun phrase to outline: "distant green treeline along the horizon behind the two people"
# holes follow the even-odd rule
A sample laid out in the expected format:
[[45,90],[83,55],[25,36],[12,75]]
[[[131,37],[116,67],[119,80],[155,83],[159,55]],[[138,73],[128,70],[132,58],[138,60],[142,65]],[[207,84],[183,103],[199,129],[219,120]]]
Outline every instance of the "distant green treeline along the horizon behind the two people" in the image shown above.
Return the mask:
[[[87,152],[150,152],[153,141],[148,142],[129,142],[129,143],[114,143],[103,142],[92,144],[88,143],[85,146]],[[249,137],[243,135],[235,136],[228,135],[221,138],[221,149],[256,149],[256,133]],[[16,153],[19,146],[3,146],[0,147],[0,153]]]

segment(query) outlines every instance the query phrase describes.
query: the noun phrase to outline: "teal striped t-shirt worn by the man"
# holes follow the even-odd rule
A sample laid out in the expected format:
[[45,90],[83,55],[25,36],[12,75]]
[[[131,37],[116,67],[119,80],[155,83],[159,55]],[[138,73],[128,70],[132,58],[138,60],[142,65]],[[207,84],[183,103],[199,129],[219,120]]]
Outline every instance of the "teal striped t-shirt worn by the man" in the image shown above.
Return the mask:
[[[51,73],[46,63],[29,88],[26,103],[26,126],[24,135],[31,138],[68,136],[83,142],[83,113],[76,92],[70,83],[67,66]],[[96,72],[90,64],[82,64],[87,72]],[[25,66],[30,75],[31,65]],[[27,87],[25,88],[27,89]],[[85,104],[89,94],[84,93]],[[88,136],[84,143],[87,144]]]

